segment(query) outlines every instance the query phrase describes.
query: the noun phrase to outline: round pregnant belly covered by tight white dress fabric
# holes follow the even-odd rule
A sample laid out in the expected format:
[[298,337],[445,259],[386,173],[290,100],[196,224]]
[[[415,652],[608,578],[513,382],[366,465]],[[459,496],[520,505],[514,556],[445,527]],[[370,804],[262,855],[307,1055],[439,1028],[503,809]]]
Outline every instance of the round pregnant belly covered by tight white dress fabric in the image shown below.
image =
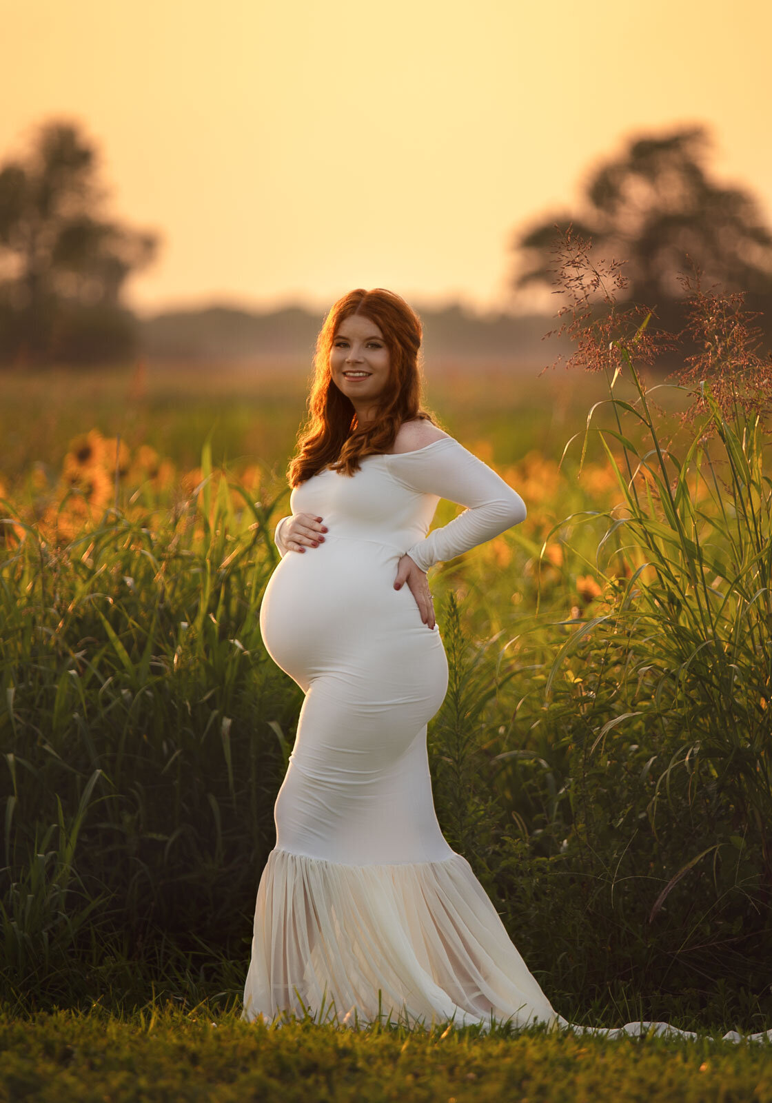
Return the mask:
[[422,621],[407,586],[394,589],[400,553],[328,536],[288,552],[270,577],[260,632],[274,662],[303,690],[319,676],[346,683],[346,697],[426,694],[438,704],[448,665],[439,629]]

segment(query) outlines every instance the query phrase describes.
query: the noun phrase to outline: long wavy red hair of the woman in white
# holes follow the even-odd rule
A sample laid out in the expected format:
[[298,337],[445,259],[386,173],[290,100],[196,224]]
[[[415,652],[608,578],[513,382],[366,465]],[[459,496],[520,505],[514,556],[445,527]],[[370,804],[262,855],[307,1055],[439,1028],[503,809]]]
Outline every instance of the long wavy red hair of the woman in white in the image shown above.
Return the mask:
[[[388,381],[378,401],[377,416],[358,426],[350,398],[337,389],[330,372],[330,351],[337,328],[352,314],[375,322],[389,351]],[[317,338],[308,420],[298,433],[298,452],[290,461],[290,486],[305,482],[322,468],[347,475],[360,470],[363,456],[382,453],[394,443],[403,421],[414,418],[437,425],[421,403],[418,353],[423,329],[418,314],[393,291],[360,287],[344,295],[326,314]]]

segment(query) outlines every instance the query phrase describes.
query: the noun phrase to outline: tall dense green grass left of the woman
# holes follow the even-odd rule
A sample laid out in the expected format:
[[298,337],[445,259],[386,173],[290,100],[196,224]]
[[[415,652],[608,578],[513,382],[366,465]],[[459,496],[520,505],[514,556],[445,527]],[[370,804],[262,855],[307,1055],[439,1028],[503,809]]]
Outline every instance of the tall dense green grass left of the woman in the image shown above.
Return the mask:
[[240,488],[236,513],[225,480],[207,493],[207,448],[202,468],[201,504],[165,527],[114,515],[60,549],[31,533],[2,565],[2,978],[20,998],[77,998],[79,962],[116,946],[248,931],[300,693],[259,635],[276,503]]

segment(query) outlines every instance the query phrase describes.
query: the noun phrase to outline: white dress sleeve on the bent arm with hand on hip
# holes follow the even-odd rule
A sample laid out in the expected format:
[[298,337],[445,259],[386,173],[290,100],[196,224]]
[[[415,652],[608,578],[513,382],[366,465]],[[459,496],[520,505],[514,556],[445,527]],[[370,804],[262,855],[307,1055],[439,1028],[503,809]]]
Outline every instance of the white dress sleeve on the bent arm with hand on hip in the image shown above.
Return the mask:
[[526,518],[521,495],[453,437],[389,456],[387,463],[392,476],[409,490],[467,506],[407,549],[421,570],[469,552]]

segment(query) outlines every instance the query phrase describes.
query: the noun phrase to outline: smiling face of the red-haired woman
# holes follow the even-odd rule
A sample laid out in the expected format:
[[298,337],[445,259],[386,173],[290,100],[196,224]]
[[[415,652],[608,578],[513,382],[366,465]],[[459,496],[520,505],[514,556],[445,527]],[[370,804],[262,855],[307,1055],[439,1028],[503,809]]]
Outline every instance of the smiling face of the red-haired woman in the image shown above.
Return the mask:
[[330,350],[330,372],[339,390],[351,398],[360,421],[375,416],[390,371],[390,356],[375,322],[350,314],[337,326]]

